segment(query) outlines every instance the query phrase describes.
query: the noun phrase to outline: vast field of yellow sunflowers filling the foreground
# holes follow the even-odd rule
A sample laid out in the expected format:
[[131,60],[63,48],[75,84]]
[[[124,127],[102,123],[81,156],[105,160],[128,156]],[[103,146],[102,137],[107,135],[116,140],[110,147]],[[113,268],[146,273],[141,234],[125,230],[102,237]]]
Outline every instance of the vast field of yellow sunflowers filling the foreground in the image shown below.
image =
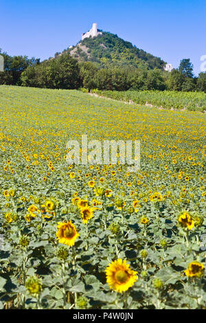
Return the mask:
[[[1,309],[206,308],[204,113],[7,86],[0,111]],[[68,164],[82,135],[140,140],[140,170]]]

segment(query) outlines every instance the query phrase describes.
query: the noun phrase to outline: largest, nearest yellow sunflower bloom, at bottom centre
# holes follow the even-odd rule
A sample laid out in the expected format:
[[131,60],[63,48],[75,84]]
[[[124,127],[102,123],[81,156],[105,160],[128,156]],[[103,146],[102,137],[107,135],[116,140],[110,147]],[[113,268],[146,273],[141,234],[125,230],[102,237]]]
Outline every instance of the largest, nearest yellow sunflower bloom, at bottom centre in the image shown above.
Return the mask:
[[126,260],[117,259],[106,267],[106,282],[111,289],[122,293],[132,287],[137,280],[137,271],[130,269]]

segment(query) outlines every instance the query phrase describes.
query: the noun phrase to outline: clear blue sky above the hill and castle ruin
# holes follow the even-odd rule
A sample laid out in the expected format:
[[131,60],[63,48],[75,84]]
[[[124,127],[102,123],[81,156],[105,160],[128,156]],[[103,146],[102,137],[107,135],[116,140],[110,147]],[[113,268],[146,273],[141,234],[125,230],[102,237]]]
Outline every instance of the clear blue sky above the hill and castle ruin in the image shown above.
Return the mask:
[[49,58],[76,45],[92,23],[174,67],[206,55],[205,0],[0,0],[0,48]]

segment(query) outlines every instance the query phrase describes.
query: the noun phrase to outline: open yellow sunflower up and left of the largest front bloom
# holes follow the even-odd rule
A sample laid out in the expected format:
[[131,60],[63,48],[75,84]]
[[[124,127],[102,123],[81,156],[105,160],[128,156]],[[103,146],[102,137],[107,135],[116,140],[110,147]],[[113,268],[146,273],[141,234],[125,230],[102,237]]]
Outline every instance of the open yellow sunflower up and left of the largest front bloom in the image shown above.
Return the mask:
[[58,222],[58,232],[56,232],[56,236],[59,243],[63,243],[64,245],[69,245],[71,247],[74,245],[76,238],[78,238],[79,234],[76,230],[75,225],[71,223],[71,221]]

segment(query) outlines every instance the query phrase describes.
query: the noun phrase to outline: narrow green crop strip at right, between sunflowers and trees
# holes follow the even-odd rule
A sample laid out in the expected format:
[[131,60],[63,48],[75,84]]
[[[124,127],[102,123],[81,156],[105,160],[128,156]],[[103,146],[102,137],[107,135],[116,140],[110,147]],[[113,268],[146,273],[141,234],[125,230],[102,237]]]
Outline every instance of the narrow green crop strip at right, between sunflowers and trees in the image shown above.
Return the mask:
[[176,91],[99,91],[94,93],[124,102],[150,104],[163,109],[187,109],[188,111],[206,111],[206,93]]

